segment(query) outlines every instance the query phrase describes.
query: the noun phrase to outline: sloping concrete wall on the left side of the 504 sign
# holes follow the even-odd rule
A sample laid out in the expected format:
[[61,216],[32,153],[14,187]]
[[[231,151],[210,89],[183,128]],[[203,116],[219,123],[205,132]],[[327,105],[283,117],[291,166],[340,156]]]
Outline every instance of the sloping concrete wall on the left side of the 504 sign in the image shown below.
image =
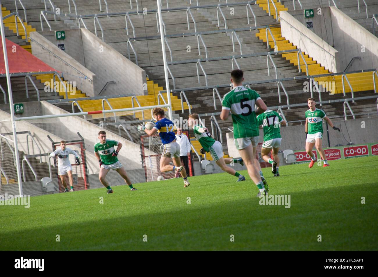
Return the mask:
[[[51,36],[51,33],[54,34],[54,32],[49,32],[49,36]],[[31,32],[30,38],[34,56],[56,70],[63,72],[63,76],[66,80],[75,81],[77,88],[86,93],[87,96],[95,96],[97,86],[97,76],[95,73],[85,68],[84,65],[76,61],[69,54],[60,50],[56,44],[51,43],[41,34]],[[41,45],[43,45],[43,47]],[[48,51],[46,51],[46,49]],[[80,47],[78,47],[78,50],[80,51]],[[49,51],[53,54],[51,54]],[[76,68],[76,70],[74,68]],[[87,76],[89,79],[84,79],[85,77],[83,75]]]

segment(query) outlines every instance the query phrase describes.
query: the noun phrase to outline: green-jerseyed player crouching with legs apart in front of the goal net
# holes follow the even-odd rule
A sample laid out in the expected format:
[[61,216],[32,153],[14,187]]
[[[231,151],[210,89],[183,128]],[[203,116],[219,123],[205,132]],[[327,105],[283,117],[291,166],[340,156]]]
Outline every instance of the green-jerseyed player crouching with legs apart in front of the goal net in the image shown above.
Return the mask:
[[[121,175],[131,190],[137,190],[131,184],[129,177],[126,175],[125,169],[117,158],[118,152],[122,148],[122,143],[117,142],[116,140],[107,140],[105,131],[98,132],[98,139],[100,141],[95,144],[95,155],[100,163],[98,178],[100,179],[101,184],[107,188],[107,193],[113,193],[112,188],[105,180],[106,174],[111,169],[117,171],[119,175]],[[114,149],[114,146],[117,146],[117,150]]]

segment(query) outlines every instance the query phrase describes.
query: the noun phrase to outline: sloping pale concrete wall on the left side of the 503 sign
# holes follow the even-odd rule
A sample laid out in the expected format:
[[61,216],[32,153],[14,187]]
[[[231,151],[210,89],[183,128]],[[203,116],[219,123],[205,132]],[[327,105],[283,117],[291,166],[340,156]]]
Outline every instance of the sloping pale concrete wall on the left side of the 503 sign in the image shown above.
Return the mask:
[[[280,11],[282,36],[301,48],[314,60],[331,72],[337,72],[338,51],[287,11]],[[320,20],[320,19],[318,19]],[[278,49],[279,50],[279,49]]]

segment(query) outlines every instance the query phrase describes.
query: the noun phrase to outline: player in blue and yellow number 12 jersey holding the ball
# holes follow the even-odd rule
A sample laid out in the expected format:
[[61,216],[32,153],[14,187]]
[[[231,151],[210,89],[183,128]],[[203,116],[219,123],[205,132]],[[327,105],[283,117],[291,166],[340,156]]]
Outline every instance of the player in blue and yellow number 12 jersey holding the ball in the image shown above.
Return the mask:
[[[163,154],[160,159],[160,171],[167,172],[174,170],[181,173],[184,179],[184,187],[187,187],[190,183],[187,180],[185,168],[181,165],[180,145],[176,142],[174,132],[175,124],[164,117],[164,110],[161,108],[153,109],[152,114],[157,121],[155,126],[151,130],[148,130],[145,126],[139,125],[138,131],[144,131],[147,135],[154,135],[156,132],[159,132],[161,142],[164,145]],[[172,159],[174,165],[169,164],[170,159]]]

